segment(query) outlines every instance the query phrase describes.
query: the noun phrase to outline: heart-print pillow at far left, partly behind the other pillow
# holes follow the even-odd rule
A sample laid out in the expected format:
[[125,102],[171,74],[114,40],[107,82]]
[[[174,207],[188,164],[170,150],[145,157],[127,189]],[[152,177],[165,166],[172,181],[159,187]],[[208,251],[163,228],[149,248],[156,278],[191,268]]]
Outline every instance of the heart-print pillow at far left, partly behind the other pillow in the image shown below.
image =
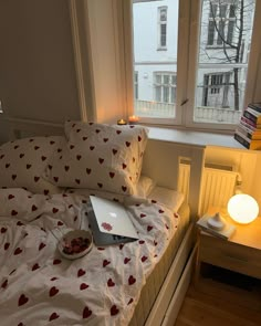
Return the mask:
[[33,193],[58,193],[61,190],[41,176],[64,137],[32,137],[0,146],[0,188],[25,188]]

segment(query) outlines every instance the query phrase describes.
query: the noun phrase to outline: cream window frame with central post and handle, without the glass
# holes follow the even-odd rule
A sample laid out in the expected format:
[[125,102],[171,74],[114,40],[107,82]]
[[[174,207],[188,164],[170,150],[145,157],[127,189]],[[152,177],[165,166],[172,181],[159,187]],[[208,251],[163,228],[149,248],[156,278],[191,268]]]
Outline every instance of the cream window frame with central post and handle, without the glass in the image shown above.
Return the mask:
[[[132,2],[132,1],[129,1]],[[126,4],[126,2],[125,2]],[[128,8],[132,12],[132,3],[125,6],[125,9]],[[154,124],[154,125],[175,125],[181,128],[188,129],[211,129],[221,133],[230,133],[234,130],[234,124],[210,124],[210,123],[198,123],[194,122],[194,107],[196,99],[196,81],[197,81],[197,65],[198,65],[198,41],[199,41],[199,31],[200,31],[200,11],[201,11],[201,0],[181,0],[179,1],[179,27],[178,27],[178,60],[177,60],[177,101],[176,101],[176,113],[175,118],[152,118],[152,117],[142,117],[142,123]],[[126,12],[125,12],[126,14]],[[128,13],[129,14],[129,13]],[[132,24],[126,29],[128,31],[125,41],[132,40]],[[255,14],[253,22],[253,33],[252,33],[252,45],[248,65],[248,76],[247,76],[247,86],[244,94],[244,105],[254,101],[257,97],[257,81],[259,77],[258,66],[259,66],[259,56],[261,55],[261,40],[259,36],[259,30],[261,29],[261,1],[255,3]],[[132,43],[132,42],[130,42]],[[126,43],[125,43],[126,45]],[[132,59],[132,44],[128,43],[125,46],[125,53],[130,53],[128,61],[126,62],[127,70],[129,70],[128,76],[133,75],[133,59]],[[130,83],[127,82],[129,85]],[[257,94],[257,95],[255,95]],[[128,96],[128,101],[129,101]],[[130,99],[132,101],[132,99]],[[260,101],[260,98],[259,98]],[[133,114],[133,101],[129,105],[130,112]]]

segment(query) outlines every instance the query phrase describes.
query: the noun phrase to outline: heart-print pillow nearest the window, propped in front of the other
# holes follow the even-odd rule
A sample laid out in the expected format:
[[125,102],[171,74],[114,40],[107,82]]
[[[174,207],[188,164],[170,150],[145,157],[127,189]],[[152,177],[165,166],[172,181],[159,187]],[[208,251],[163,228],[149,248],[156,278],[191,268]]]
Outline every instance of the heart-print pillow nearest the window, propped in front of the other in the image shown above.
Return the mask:
[[67,143],[54,153],[45,178],[60,187],[133,194],[139,179],[147,129],[66,122]]

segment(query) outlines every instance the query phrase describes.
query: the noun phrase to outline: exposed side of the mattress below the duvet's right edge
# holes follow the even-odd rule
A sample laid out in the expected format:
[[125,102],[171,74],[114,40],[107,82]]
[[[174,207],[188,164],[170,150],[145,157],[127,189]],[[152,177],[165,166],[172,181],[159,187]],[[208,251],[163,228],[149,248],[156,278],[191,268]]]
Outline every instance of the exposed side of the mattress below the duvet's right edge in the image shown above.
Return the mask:
[[[177,196],[179,197],[178,193]],[[175,199],[177,199],[176,196]],[[138,304],[135,307],[133,318],[129,323],[130,326],[140,326],[145,324],[149,315],[149,312],[154,305],[154,302],[164,283],[164,280],[169,271],[169,267],[176,256],[178,248],[182,242],[186,231],[188,230],[190,218],[189,207],[186,202],[182,202],[180,204],[178,214],[180,215],[178,229],[175,232],[174,238],[171,239],[169,246],[166,250],[163,259],[159,261],[159,263],[154,269],[153,273],[146,280],[146,284],[142,290]]]

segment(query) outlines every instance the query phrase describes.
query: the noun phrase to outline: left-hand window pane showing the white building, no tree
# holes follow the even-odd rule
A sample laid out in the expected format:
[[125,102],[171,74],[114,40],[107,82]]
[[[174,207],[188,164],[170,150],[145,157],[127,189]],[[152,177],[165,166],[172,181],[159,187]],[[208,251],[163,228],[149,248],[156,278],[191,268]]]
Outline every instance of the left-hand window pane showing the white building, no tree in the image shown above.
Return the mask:
[[134,102],[137,116],[176,116],[173,85],[176,87],[178,2],[133,1],[133,69],[139,78],[138,99]]

